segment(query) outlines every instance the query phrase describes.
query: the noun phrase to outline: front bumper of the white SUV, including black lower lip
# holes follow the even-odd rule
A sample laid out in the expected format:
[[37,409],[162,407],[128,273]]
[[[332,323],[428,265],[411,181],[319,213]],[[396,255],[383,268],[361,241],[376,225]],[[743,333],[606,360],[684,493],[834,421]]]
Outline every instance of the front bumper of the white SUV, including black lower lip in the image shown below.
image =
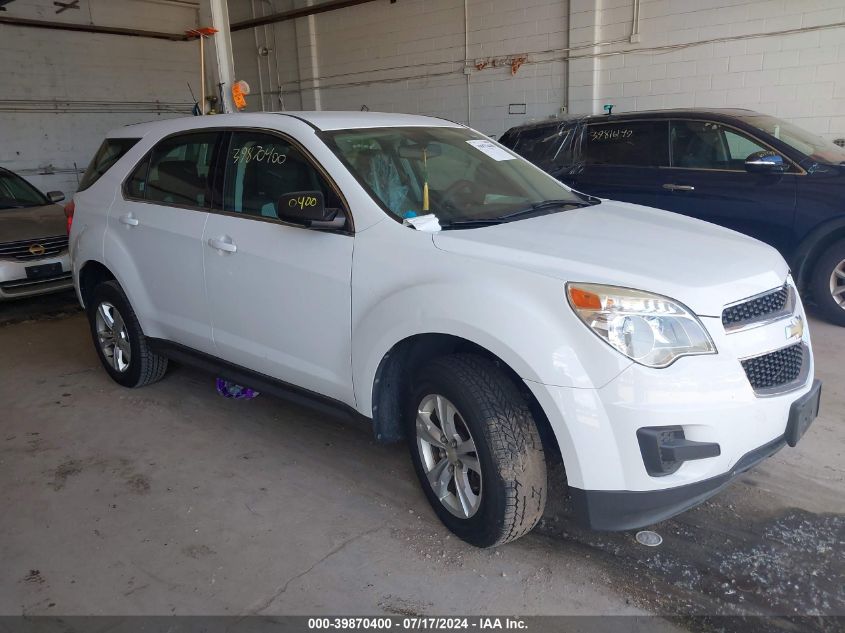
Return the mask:
[[[804,318],[800,305],[794,316]],[[701,503],[787,444],[793,404],[818,389],[807,328],[795,337],[791,321],[780,320],[728,334],[720,319],[701,320],[718,354],[665,369],[632,364],[596,389],[526,381],[558,440],[576,510],[591,527],[632,529]],[[807,350],[800,378],[782,391],[755,391],[742,360],[798,343]],[[655,472],[638,431],[663,428],[682,430],[682,443],[698,454]]]

